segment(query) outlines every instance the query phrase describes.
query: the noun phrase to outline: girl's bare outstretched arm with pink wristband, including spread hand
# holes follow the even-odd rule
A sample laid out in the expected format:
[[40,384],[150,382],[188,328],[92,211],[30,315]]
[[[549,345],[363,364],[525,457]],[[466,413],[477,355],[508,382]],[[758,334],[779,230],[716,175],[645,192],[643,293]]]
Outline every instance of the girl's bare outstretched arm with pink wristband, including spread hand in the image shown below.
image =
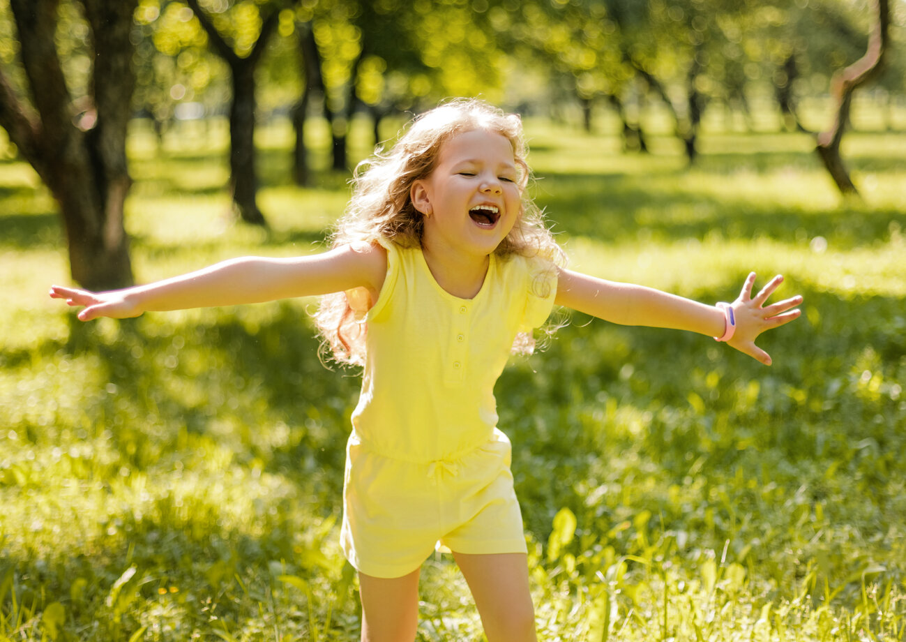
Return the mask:
[[[748,275],[739,297],[731,304],[737,329],[728,345],[771,365],[771,357],[755,345],[755,340],[765,330],[783,326],[798,317],[799,310],[791,308],[802,303],[802,297],[765,306],[783,277],[774,277],[753,297],[755,277],[754,272]],[[724,313],[716,306],[567,269],[560,270],[556,303],[623,326],[670,327],[708,336],[722,336],[726,327]]]

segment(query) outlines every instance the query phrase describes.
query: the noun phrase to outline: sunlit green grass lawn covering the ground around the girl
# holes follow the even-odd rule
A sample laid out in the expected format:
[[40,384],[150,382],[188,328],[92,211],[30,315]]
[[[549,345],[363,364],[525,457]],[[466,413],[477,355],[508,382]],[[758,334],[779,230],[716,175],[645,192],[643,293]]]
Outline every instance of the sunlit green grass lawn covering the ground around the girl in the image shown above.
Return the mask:
[[[539,637],[903,639],[906,136],[844,140],[857,203],[800,134],[711,131],[688,170],[667,138],[643,156],[527,131],[573,268],[705,301],[754,268],[805,295],[762,337],[771,368],[575,315],[506,371]],[[159,150],[134,131],[140,280],[317,251],[342,211],[342,176],[287,186],[278,124],[260,139],[271,229],[236,226],[222,133]],[[0,212],[0,639],[357,637],[338,520],[359,382],[319,362],[313,301],[82,325],[46,297],[62,235],[20,162],[0,163]],[[480,638],[449,559],[421,589],[419,639]]]

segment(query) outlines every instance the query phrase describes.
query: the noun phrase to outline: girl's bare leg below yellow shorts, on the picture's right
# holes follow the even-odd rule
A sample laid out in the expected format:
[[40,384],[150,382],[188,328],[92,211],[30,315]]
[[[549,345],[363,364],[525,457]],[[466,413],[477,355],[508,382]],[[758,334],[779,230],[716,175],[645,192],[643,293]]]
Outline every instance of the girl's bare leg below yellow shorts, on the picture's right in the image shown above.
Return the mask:
[[475,598],[488,642],[536,642],[525,553],[453,553]]

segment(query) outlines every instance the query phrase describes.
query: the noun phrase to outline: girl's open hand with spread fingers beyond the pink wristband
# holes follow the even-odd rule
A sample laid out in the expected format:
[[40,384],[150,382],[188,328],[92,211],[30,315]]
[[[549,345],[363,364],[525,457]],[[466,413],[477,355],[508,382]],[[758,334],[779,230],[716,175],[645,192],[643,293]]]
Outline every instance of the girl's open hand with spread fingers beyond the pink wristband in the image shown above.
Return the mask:
[[737,327],[733,337],[727,343],[762,364],[771,365],[770,355],[755,345],[755,340],[765,330],[784,326],[798,318],[802,312],[790,308],[801,304],[802,297],[796,295],[765,306],[768,297],[774,294],[774,290],[783,283],[784,277],[777,275],[772,278],[755,297],[752,297],[755,278],[755,272],[748,275],[737,300],[730,304],[733,307],[733,314],[736,316]]

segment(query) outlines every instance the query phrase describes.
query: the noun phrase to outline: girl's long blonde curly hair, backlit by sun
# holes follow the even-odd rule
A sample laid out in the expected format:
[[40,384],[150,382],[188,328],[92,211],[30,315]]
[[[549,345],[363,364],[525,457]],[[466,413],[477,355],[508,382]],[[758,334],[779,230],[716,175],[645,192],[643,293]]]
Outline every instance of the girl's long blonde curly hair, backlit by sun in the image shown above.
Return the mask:
[[[526,193],[531,170],[525,162],[528,148],[522,120],[515,113],[503,112],[477,99],[445,102],[419,115],[390,151],[379,148],[371,159],[359,163],[351,180],[352,199],[333,230],[331,248],[380,240],[402,248],[420,247],[424,215],[412,205],[412,184],[428,178],[435,169],[444,142],[474,130],[492,131],[510,141],[518,170],[521,211],[495,254],[500,258],[514,254],[540,257],[548,262],[551,270],[563,265],[563,250],[545,226],[541,209]],[[540,288],[546,282],[543,274],[536,279],[535,287]],[[546,295],[545,292],[536,294]],[[314,322],[323,336],[323,352],[328,357],[342,364],[364,364],[367,327],[356,319],[346,293],[322,297]],[[516,336],[515,353],[531,354],[534,348],[531,335]]]

